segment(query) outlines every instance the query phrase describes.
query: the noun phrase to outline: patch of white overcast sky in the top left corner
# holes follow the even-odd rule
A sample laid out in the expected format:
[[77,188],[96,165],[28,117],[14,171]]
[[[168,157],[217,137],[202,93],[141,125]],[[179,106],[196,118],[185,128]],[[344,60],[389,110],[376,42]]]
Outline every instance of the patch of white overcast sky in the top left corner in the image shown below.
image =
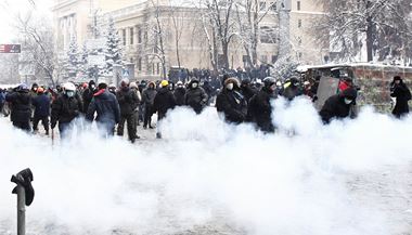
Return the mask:
[[29,10],[51,15],[51,6],[53,0],[33,0],[35,6],[30,3],[30,0],[0,0],[0,43],[9,43],[14,37],[12,28],[13,18],[20,12],[24,13]]

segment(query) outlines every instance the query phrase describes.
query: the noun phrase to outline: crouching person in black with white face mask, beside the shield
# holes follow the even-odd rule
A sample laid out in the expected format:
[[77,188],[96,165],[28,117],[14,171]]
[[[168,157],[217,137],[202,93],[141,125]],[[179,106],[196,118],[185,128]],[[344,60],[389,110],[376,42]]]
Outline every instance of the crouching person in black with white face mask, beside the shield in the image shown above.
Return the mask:
[[357,96],[357,90],[348,88],[344,92],[329,97],[319,113],[323,123],[329,123],[332,118],[342,119],[350,117]]

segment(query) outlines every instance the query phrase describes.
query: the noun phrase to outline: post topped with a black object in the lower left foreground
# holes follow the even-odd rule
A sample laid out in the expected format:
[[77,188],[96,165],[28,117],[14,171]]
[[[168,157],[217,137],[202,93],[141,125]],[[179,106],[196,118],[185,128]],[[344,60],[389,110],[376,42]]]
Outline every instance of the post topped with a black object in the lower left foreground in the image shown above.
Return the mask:
[[11,182],[17,186],[13,194],[17,194],[17,235],[26,234],[26,206],[30,206],[35,198],[35,190],[31,186],[33,173],[29,168],[12,175]]

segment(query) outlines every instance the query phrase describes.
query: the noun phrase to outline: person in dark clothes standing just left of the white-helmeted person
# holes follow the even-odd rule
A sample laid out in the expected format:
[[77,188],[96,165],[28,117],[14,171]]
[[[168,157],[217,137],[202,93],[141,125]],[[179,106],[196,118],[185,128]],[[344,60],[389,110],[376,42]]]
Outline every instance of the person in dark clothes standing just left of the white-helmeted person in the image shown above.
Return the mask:
[[44,93],[43,88],[37,89],[37,96],[33,100],[33,106],[35,106],[33,130],[38,131],[38,125],[41,120],[46,135],[49,135],[50,96]]

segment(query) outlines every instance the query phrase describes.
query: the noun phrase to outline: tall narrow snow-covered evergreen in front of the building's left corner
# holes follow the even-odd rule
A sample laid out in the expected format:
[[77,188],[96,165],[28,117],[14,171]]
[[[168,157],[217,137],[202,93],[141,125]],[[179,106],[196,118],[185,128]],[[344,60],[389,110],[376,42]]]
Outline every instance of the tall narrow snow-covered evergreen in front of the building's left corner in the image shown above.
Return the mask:
[[107,75],[112,75],[113,65],[123,64],[120,39],[117,35],[117,29],[115,27],[115,23],[112,17],[108,19],[108,28],[106,32],[105,57],[106,57],[105,73]]

